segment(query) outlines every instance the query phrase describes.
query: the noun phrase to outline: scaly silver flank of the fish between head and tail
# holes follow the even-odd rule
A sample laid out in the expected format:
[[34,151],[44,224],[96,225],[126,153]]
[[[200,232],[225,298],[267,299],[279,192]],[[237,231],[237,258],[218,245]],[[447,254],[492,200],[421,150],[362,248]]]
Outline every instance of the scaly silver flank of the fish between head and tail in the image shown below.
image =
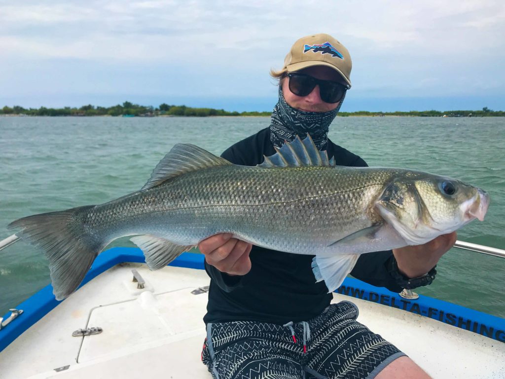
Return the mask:
[[[377,214],[374,213],[375,219],[369,219],[365,210],[379,187],[393,175],[386,171],[339,169],[341,175],[335,175],[333,167],[265,169],[230,165],[198,170],[145,192],[96,206],[88,211],[86,224],[90,229],[107,229],[109,240],[125,232],[156,232],[189,245],[230,231],[270,248],[307,254],[308,246],[311,251],[324,247],[314,246],[311,240],[315,235],[320,244],[327,246],[349,231],[375,222]],[[340,232],[325,233],[328,223]],[[268,240],[255,238],[267,230],[274,230],[273,234],[268,233]],[[307,241],[305,247],[288,246],[288,241],[296,239]]]

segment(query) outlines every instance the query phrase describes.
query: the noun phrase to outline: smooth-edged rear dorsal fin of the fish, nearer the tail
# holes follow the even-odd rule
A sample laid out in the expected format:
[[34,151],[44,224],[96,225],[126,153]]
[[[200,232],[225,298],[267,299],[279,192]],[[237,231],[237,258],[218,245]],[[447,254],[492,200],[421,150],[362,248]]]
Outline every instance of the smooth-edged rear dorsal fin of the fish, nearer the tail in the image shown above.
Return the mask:
[[231,165],[226,159],[191,144],[177,144],[158,163],[140,191],[156,187],[164,181],[200,168]]

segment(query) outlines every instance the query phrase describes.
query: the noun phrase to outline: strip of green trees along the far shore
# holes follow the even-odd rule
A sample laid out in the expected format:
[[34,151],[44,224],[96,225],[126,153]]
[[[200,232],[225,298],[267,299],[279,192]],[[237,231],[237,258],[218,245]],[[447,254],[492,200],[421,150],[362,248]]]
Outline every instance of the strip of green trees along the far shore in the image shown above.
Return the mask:
[[[0,108],[0,115],[25,115],[25,116],[270,116],[268,112],[228,112],[224,109],[192,108],[185,105],[161,104],[159,107],[142,106],[124,102],[113,107],[95,107],[91,104],[80,108],[46,108],[40,107],[25,109],[21,106]],[[505,116],[505,111],[492,111],[487,107],[479,111],[409,111],[409,112],[340,112],[339,116],[418,116],[418,117],[482,117]]]

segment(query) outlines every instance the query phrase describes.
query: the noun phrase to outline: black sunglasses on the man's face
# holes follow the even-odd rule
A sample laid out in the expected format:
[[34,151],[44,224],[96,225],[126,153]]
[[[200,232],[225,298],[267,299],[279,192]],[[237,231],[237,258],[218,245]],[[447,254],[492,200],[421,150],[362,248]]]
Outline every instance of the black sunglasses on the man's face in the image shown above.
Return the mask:
[[296,96],[307,96],[316,85],[319,85],[319,94],[321,100],[325,103],[338,103],[344,97],[345,91],[349,86],[332,80],[316,79],[313,76],[290,72],[289,90]]

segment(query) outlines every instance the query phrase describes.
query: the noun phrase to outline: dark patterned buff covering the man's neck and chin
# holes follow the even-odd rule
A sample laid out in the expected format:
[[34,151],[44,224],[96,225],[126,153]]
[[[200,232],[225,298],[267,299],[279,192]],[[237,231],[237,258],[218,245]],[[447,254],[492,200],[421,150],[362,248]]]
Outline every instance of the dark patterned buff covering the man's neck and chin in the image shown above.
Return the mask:
[[270,140],[275,147],[280,148],[284,141],[292,141],[299,135],[301,139],[309,133],[319,150],[325,150],[328,143],[328,128],[336,117],[345,99],[345,93],[340,104],[333,111],[306,112],[299,111],[286,103],[279,84],[279,101],[272,112],[270,122]]

